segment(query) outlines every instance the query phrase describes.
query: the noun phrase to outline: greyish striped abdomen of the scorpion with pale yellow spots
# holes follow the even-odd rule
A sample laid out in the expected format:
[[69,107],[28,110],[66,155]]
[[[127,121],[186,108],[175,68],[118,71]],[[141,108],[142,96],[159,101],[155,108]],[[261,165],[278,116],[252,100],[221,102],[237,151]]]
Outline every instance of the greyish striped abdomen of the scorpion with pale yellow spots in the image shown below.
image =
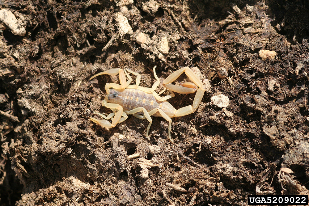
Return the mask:
[[151,111],[162,107],[162,102],[155,99],[152,94],[134,89],[125,89],[125,92],[123,107],[127,110],[144,107],[147,111]]

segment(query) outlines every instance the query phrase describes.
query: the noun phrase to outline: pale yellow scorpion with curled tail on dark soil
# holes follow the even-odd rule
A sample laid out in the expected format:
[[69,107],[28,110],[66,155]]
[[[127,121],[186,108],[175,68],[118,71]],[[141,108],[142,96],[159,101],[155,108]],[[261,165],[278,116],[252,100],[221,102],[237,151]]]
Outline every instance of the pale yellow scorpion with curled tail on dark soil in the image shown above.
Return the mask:
[[[192,71],[192,69],[189,67],[182,67],[163,80],[163,86],[166,88],[165,90],[169,90],[171,94],[165,97],[160,97],[155,92],[155,89],[160,84],[160,80],[155,72],[155,68],[156,67],[153,68],[153,71],[157,81],[151,88],[139,86],[141,81],[141,74],[133,72],[129,69],[109,69],[92,76],[90,80],[103,74],[108,74],[111,76],[119,74],[120,84],[106,83],[105,85],[107,95],[102,101],[102,106],[110,108],[113,112],[108,116],[95,113],[102,116],[104,119],[98,120],[91,118],[90,120],[104,128],[113,128],[116,126],[116,124],[125,121],[128,118],[127,115],[133,115],[139,119],[147,119],[149,124],[147,127],[146,137],[149,139],[149,128],[152,124],[151,116],[163,117],[169,122],[168,139],[173,142],[171,139],[171,118],[185,116],[196,111],[203,98],[205,86],[197,77],[197,75]],[[136,84],[130,85],[132,78],[128,72],[136,75]],[[185,73],[193,83],[184,82],[181,83],[181,86],[171,84],[183,73]],[[128,77],[128,81],[126,80],[125,76]],[[165,90],[163,90],[163,92]],[[167,99],[175,96],[173,92],[180,94],[192,94],[196,92],[192,106],[189,105],[180,109],[175,109],[170,103],[166,101]],[[111,119],[112,123],[109,122],[108,119]]]

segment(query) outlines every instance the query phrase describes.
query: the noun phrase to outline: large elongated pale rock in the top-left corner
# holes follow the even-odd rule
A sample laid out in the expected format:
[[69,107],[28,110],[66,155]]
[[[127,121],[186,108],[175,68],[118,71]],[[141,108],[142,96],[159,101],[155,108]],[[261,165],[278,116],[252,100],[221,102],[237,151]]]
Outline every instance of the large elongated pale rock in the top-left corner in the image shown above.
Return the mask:
[[25,36],[26,29],[18,24],[15,15],[8,9],[0,10],[0,21],[9,27],[14,35]]

